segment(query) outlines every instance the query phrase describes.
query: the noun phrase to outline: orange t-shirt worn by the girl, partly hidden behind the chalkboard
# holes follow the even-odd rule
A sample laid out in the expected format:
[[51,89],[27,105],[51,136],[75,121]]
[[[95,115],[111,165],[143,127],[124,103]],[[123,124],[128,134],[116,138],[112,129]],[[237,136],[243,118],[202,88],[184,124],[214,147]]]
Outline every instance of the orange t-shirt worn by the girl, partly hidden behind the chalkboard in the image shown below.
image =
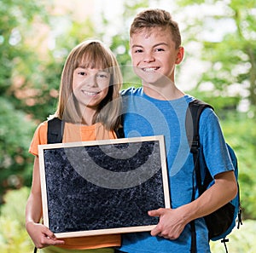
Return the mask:
[[[38,126],[32,139],[29,152],[38,156],[38,145],[47,144],[47,121]],[[91,126],[66,123],[64,127],[63,142],[73,141],[96,141],[116,139],[114,131],[104,129],[102,124],[97,123]],[[64,245],[59,247],[73,250],[97,249],[119,246],[121,239],[119,234],[96,235],[86,237],[67,238]]]

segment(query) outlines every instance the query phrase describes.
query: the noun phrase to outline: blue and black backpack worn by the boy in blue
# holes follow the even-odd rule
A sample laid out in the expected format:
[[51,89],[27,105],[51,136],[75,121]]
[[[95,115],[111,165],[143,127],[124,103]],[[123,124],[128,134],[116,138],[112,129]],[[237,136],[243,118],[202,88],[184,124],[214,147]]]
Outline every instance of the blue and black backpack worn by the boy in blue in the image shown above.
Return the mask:
[[[200,136],[199,136],[199,120],[201,117],[201,112],[205,108],[212,108],[209,104],[204,101],[194,100],[189,103],[189,107],[186,114],[186,133],[189,141],[190,152],[193,153],[193,159],[195,164],[195,177],[196,185],[199,189],[199,194],[201,195],[207,190],[207,187],[211,186],[213,183],[212,176],[209,170],[207,170],[204,181],[201,181],[201,170],[199,157],[203,154],[200,150]],[[191,129],[191,127],[193,129]],[[224,243],[225,250],[228,252],[226,247],[226,242],[229,239],[225,239],[228,234],[231,233],[232,229],[236,226],[236,218],[238,220],[237,228],[240,227],[241,222],[241,204],[240,204],[240,194],[239,194],[239,184],[238,184],[238,166],[237,158],[233,149],[227,144],[228,151],[230,153],[230,158],[235,169],[236,181],[238,186],[238,193],[234,199],[229,203],[225,204],[220,209],[214,211],[212,214],[205,216],[204,219],[207,223],[207,228],[209,231],[209,240],[216,241],[222,239],[221,242]],[[193,198],[195,199],[195,189],[193,189]],[[193,224],[194,223],[194,224]],[[191,241],[191,252],[195,252],[196,249],[196,237],[195,237],[195,222],[191,224],[192,231],[192,241]],[[194,233],[194,234],[193,234]],[[192,250],[194,249],[194,251]]]

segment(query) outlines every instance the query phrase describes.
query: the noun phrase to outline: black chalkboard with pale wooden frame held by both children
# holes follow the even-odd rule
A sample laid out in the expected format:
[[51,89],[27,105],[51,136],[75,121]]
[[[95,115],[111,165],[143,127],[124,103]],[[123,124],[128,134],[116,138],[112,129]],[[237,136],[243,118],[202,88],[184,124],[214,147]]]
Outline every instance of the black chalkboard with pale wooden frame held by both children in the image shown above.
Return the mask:
[[160,136],[38,146],[44,224],[58,238],[149,231],[170,207]]

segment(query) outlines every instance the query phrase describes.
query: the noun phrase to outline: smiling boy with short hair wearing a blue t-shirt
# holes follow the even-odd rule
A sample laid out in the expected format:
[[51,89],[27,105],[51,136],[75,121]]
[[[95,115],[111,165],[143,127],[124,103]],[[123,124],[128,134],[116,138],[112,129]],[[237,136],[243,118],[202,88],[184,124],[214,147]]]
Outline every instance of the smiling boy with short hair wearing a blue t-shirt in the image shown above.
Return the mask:
[[125,137],[165,135],[172,208],[148,211],[149,216],[160,218],[158,225],[151,234],[124,234],[120,250],[188,253],[191,249],[189,222],[195,220],[197,252],[210,252],[202,216],[228,203],[237,191],[218,118],[209,108],[201,114],[201,149],[215,184],[192,201],[195,174],[185,115],[189,101],[194,98],[177,89],[174,81],[175,66],[182,62],[184,55],[177,23],[165,10],[145,10],[137,14],[131,24],[130,46],[134,72],[142,78],[143,88],[130,88],[122,94]]

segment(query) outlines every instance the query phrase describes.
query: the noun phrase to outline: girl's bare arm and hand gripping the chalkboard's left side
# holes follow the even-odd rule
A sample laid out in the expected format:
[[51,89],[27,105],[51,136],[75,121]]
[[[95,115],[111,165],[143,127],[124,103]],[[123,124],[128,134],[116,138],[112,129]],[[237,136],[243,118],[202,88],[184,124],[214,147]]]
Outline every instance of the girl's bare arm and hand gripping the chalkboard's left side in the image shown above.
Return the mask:
[[63,240],[55,238],[48,227],[40,224],[42,217],[42,198],[39,174],[39,161],[35,157],[32,175],[32,188],[26,203],[26,231],[38,249],[49,245],[64,244]]

